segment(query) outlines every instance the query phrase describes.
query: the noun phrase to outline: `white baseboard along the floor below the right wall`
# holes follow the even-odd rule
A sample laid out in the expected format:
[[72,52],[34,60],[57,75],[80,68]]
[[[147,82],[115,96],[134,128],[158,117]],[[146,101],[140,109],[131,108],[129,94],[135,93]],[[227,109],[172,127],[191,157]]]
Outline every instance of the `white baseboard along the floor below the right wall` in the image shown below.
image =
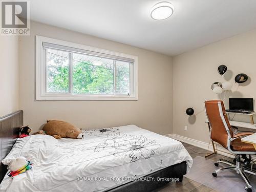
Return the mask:
[[[184,143],[188,143],[190,145],[194,145],[194,146],[203,148],[204,150],[208,149],[208,144],[209,143],[205,143],[205,142],[202,142],[202,141],[198,141],[198,140],[191,139],[191,138],[184,137],[184,136],[177,135],[177,134],[168,134],[168,135],[164,135],[164,136],[175,139],[175,140],[178,140],[178,141],[181,141],[181,142],[184,142]],[[234,155],[232,155],[228,150],[226,150],[226,148],[224,148],[220,144],[216,144],[216,145],[217,145],[216,148],[217,148],[217,153],[218,154],[224,155],[226,157],[234,158]],[[211,143],[209,145],[209,151],[210,152],[214,151],[214,148],[212,147]]]

